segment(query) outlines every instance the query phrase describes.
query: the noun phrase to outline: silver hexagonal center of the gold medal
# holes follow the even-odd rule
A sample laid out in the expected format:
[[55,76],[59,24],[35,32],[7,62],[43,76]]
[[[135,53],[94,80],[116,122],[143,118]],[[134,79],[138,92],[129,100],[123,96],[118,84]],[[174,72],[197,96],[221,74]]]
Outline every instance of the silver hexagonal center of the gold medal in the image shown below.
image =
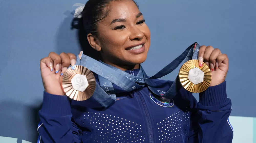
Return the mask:
[[198,67],[192,68],[188,72],[188,79],[194,84],[201,83],[204,81],[204,72]]

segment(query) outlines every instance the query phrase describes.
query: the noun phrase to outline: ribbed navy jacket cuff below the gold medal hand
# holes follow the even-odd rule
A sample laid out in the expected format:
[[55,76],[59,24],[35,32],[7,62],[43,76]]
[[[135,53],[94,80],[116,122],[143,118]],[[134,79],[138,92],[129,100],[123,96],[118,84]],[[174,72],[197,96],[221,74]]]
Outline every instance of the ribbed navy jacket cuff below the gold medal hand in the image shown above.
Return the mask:
[[217,106],[227,102],[226,81],[219,85],[208,87],[205,91],[199,93],[198,103],[203,106]]

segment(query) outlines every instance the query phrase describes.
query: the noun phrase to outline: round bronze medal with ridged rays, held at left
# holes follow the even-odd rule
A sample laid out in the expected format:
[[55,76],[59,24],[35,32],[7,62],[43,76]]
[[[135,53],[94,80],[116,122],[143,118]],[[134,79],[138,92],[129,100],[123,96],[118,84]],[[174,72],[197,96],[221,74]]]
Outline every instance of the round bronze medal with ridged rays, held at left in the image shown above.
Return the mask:
[[84,66],[76,65],[63,74],[61,80],[63,92],[71,99],[84,101],[92,96],[96,88],[93,73]]

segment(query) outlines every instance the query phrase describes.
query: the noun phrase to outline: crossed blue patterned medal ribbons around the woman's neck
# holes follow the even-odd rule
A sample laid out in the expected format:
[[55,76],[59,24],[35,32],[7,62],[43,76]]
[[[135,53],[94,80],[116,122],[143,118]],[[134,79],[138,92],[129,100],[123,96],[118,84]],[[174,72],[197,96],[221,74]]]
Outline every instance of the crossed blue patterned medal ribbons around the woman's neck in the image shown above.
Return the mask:
[[[178,58],[152,77],[148,77],[146,75],[142,66],[140,66],[140,71],[137,76],[133,76],[121,69],[105,64],[102,61],[97,61],[87,55],[82,55],[81,60],[77,55],[76,65],[84,66],[98,75],[100,85],[96,83],[96,89],[92,97],[94,97],[103,107],[108,107],[116,100],[112,83],[127,92],[131,92],[147,85],[151,92],[156,95],[160,95],[156,87],[152,84],[151,79],[161,78],[171,73],[179,66],[180,63],[182,63],[184,59],[185,62],[192,59],[198,59],[198,51],[199,44],[192,44],[181,55],[179,55]],[[169,90],[163,96],[171,99],[177,94],[177,80],[177,78],[174,80]]]

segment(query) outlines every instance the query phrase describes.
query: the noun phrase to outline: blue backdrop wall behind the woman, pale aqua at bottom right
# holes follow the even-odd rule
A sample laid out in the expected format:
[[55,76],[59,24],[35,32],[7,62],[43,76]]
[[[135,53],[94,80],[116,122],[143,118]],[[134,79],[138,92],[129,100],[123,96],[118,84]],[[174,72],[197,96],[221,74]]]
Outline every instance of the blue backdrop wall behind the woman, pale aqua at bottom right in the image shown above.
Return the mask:
[[[152,35],[148,59],[143,63],[148,75],[195,41],[221,49],[230,61],[226,80],[232,100],[233,142],[243,134],[246,142],[256,143],[256,120],[251,118],[256,117],[256,1],[137,2]],[[0,142],[36,142],[43,99],[39,61],[50,51],[80,51],[78,32],[71,29],[75,3],[86,1],[0,0]],[[177,74],[178,69],[163,79],[174,80]],[[195,97],[198,99],[198,94]]]

